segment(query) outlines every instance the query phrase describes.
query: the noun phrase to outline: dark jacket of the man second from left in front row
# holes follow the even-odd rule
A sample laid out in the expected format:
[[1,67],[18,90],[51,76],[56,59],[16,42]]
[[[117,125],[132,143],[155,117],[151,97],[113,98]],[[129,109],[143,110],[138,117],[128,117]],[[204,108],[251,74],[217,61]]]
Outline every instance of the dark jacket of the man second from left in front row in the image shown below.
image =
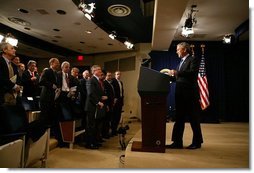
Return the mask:
[[37,72],[34,73],[34,76],[37,78],[35,81],[32,81],[32,75],[28,70],[24,71],[22,74],[22,85],[23,85],[23,97],[34,97],[40,95],[40,86],[39,79],[40,76]]

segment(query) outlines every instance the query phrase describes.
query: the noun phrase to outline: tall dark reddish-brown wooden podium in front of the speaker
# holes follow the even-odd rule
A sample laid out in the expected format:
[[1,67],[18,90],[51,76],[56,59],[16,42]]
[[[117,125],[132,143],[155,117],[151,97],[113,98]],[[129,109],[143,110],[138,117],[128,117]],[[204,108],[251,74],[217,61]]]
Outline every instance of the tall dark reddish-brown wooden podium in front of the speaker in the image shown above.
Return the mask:
[[133,141],[132,151],[165,153],[169,76],[140,67],[138,93],[141,97],[142,141]]

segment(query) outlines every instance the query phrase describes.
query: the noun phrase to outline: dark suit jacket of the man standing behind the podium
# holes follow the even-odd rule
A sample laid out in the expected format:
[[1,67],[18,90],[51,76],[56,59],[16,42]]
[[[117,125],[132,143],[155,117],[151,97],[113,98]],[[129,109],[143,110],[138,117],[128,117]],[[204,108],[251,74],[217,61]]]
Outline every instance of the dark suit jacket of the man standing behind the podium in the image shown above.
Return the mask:
[[199,60],[196,57],[188,56],[176,76],[175,97],[177,107],[190,105],[193,102],[198,104],[198,70]]

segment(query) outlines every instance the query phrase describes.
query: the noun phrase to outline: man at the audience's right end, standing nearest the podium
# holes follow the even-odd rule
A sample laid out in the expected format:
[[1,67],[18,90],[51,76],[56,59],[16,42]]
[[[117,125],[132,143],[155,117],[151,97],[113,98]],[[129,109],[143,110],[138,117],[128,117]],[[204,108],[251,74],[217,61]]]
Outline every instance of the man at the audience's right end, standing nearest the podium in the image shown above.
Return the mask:
[[117,135],[117,127],[121,119],[121,113],[123,108],[124,89],[123,82],[120,80],[121,72],[115,72],[115,78],[112,79],[112,85],[115,91],[114,99],[114,115],[112,120],[112,136]]

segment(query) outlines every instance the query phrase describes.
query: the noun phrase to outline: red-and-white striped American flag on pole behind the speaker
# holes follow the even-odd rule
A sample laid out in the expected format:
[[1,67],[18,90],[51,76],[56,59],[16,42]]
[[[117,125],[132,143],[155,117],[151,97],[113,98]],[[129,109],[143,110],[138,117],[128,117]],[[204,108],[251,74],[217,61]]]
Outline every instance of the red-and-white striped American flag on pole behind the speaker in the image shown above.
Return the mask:
[[201,109],[204,110],[210,104],[204,54],[202,54],[201,62],[200,62],[200,65],[199,65],[198,86],[199,86],[199,95],[200,95],[199,102],[200,102],[200,105],[201,105]]

